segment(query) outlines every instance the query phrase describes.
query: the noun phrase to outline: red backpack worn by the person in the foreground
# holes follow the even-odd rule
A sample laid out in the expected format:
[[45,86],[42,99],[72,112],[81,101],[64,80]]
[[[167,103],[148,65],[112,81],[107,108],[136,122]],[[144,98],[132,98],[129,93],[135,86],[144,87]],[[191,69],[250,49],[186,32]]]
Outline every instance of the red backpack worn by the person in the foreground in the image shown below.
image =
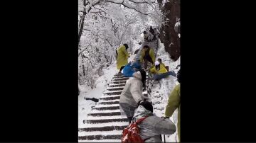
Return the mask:
[[144,140],[139,135],[139,127],[137,126],[139,122],[146,119],[140,118],[137,122],[132,122],[128,127],[125,127],[122,132],[121,142],[122,143],[144,143]]

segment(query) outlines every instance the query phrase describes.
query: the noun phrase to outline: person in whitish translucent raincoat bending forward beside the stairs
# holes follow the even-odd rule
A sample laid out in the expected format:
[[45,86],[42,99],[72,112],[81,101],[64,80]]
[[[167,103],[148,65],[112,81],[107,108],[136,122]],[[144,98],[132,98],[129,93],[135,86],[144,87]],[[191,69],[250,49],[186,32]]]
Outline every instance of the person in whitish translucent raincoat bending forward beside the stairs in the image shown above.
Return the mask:
[[129,123],[132,121],[134,110],[137,108],[140,102],[144,101],[142,91],[145,89],[146,72],[140,69],[132,74],[127,80],[124,89],[121,93],[119,106],[120,110],[124,111]]

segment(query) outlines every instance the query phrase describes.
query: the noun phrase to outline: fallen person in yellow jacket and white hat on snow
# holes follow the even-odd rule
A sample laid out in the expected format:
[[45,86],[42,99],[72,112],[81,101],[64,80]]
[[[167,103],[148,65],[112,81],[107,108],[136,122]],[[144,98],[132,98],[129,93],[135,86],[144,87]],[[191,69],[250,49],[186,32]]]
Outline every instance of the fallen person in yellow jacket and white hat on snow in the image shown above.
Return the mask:
[[167,71],[164,64],[160,64],[159,61],[156,61],[154,63],[154,67],[149,69],[149,71],[154,74],[153,78],[154,80],[158,81],[160,79],[165,78],[166,76],[176,76],[176,73],[174,71]]

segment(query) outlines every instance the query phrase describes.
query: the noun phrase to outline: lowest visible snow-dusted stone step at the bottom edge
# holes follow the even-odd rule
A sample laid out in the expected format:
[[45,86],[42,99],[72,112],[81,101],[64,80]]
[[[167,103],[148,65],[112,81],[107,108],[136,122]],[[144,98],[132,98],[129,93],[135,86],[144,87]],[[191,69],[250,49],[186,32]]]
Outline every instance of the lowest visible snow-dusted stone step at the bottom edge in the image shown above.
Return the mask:
[[[87,136],[81,136],[78,137],[78,141],[80,140],[99,140],[102,142],[102,139],[119,139],[119,142],[121,142],[121,135],[87,135]],[[106,142],[109,142],[106,140]]]

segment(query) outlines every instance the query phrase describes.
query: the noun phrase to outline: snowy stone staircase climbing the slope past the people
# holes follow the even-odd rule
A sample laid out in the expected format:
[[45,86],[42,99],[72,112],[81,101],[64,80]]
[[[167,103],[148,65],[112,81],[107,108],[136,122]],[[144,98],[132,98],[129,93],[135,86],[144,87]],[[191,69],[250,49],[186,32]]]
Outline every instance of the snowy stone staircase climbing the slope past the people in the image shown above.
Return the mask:
[[[156,46],[157,45],[153,45]],[[134,59],[135,60],[135,59]],[[151,67],[151,63],[148,63]],[[144,64],[142,63],[142,68]],[[148,75],[148,73],[146,72]],[[120,142],[122,130],[129,125],[127,117],[121,116],[119,98],[129,78],[123,74],[114,75],[99,102],[87,114],[84,125],[78,128],[78,142]],[[146,79],[146,85],[149,81]],[[146,86],[147,87],[147,86]],[[143,95],[148,97],[147,90]]]

